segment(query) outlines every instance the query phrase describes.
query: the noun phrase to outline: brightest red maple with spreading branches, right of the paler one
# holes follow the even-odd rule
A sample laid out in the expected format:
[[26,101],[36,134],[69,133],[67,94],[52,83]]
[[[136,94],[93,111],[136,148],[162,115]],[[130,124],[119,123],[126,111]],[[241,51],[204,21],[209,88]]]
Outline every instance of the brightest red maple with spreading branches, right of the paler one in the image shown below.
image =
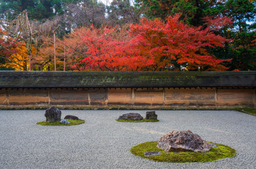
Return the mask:
[[141,55],[153,60],[153,70],[226,70],[221,63],[230,60],[216,59],[209,54],[207,48],[223,46],[228,42],[219,35],[214,35],[207,27],[192,27],[179,21],[180,15],[170,16],[165,22],[160,19],[141,20],[141,24],[131,25],[130,34],[133,49],[141,51]]

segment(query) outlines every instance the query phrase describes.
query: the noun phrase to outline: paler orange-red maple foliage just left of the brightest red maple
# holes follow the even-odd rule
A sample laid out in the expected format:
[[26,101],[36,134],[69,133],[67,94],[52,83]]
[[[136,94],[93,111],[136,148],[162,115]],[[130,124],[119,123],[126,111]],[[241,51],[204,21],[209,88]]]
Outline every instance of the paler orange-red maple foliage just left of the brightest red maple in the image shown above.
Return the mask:
[[150,61],[132,49],[122,29],[102,27],[76,30],[65,39],[69,66],[74,70],[142,70]]

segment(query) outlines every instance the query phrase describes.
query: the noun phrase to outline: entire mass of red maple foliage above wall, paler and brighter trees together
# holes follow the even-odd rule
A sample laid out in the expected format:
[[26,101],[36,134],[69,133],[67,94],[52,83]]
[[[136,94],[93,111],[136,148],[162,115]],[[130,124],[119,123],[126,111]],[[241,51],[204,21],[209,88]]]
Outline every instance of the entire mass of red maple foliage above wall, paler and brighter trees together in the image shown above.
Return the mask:
[[207,27],[191,27],[180,22],[180,15],[141,20],[129,31],[112,27],[76,30],[64,39],[73,70],[226,70],[208,48],[228,42]]

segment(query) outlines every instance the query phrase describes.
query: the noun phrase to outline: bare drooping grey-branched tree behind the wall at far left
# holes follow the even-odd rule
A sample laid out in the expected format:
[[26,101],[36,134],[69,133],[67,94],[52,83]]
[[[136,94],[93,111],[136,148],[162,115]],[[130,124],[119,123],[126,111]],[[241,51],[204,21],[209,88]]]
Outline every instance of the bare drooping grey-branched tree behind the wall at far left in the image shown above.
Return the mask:
[[[35,61],[39,54],[42,44],[47,37],[52,37],[53,32],[57,30],[61,18],[55,17],[52,20],[46,20],[44,23],[29,20],[27,11],[20,13],[14,20],[1,20],[5,30],[5,36],[8,40],[15,42],[19,47],[18,56],[23,56],[23,70],[37,70]],[[54,50],[52,50],[54,52]],[[25,56],[26,55],[26,56]],[[11,61],[16,61],[15,55],[11,55]],[[26,58],[26,59],[24,59]],[[28,66],[27,66],[28,65]],[[42,70],[42,69],[41,69]]]

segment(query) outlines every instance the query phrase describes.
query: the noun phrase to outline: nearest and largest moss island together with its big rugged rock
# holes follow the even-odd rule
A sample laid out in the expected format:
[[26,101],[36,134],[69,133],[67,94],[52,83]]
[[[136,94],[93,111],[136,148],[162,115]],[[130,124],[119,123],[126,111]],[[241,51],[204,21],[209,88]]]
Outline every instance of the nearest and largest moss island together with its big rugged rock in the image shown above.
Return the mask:
[[229,146],[206,142],[198,134],[187,131],[170,131],[158,142],[144,142],[133,146],[132,154],[153,161],[194,163],[231,158],[236,151]]

